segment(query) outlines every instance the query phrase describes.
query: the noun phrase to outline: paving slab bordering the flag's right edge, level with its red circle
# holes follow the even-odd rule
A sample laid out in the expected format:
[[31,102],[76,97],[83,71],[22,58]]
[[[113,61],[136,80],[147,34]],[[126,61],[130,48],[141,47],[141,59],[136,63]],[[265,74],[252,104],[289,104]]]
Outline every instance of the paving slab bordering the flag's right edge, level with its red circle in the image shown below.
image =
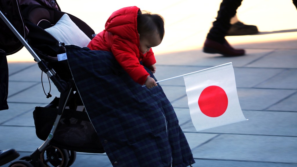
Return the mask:
[[265,110],[292,95],[295,90],[238,88],[237,94],[242,110]]

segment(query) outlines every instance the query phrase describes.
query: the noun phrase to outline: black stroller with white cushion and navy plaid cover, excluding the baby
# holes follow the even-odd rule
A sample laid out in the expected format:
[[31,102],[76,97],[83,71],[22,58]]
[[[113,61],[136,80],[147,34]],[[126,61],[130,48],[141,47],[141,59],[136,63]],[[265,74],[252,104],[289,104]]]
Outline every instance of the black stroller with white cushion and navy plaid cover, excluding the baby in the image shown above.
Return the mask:
[[113,166],[195,163],[159,83],[142,87],[111,52],[84,47],[96,34],[80,19],[61,12],[54,0],[0,2],[5,22],[0,22],[0,49],[13,54],[24,45],[61,93],[33,111],[37,137],[45,142],[10,167],[68,167],[76,152],[106,152]]

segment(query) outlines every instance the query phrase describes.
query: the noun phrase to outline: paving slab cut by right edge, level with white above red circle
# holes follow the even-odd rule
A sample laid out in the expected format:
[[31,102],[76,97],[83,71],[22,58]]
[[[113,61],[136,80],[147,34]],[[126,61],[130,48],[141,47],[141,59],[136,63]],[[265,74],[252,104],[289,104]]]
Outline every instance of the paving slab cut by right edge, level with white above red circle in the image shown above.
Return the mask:
[[[296,64],[297,65],[297,64]],[[257,88],[297,89],[297,69],[285,69],[272,78],[256,85]]]

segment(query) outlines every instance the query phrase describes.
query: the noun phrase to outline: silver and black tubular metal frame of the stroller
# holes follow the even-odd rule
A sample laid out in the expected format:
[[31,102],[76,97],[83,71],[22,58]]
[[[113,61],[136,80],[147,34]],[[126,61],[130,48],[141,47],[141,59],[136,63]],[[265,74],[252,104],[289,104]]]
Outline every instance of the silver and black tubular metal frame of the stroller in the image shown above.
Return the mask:
[[[17,1],[18,2],[18,1]],[[20,160],[17,160],[10,164],[10,166],[27,166],[27,167],[38,167],[38,166],[46,166],[40,160],[41,153],[44,152],[46,149],[51,147],[50,142],[53,138],[53,135],[55,134],[55,131],[58,127],[59,121],[61,119],[61,116],[64,112],[64,109],[66,108],[67,102],[69,101],[70,95],[73,93],[73,90],[75,89],[75,84],[73,81],[73,78],[69,81],[64,81],[59,76],[57,76],[56,71],[50,67],[50,64],[46,62],[43,59],[40,59],[40,57],[35,53],[35,51],[31,48],[31,46],[26,42],[26,40],[20,35],[20,33],[15,29],[15,27],[10,23],[10,21],[4,16],[4,14],[0,10],[0,17],[1,19],[7,24],[7,26],[12,30],[12,32],[15,34],[15,36],[20,40],[20,42],[25,46],[25,48],[29,51],[29,53],[33,56],[34,61],[37,62],[40,69],[45,72],[50,80],[54,83],[54,85],[57,87],[60,94],[60,100],[59,100],[59,108],[58,108],[58,115],[56,116],[55,122],[53,124],[53,127],[50,131],[50,134],[48,135],[48,138],[44,141],[44,143],[38,147],[34,152],[30,154],[30,156],[22,157]],[[59,42],[59,46],[64,46],[64,43]],[[56,147],[57,148],[57,147]],[[62,160],[61,164],[59,166],[66,167],[72,165],[76,158],[76,152],[73,151],[71,155],[69,154],[70,150],[67,150],[68,155],[64,155],[65,152],[61,152]],[[104,153],[104,150],[98,151],[98,153]],[[63,157],[64,156],[64,157]],[[66,157],[65,157],[66,156]],[[72,156],[71,162],[69,162],[69,157]],[[63,159],[64,158],[64,159]]]

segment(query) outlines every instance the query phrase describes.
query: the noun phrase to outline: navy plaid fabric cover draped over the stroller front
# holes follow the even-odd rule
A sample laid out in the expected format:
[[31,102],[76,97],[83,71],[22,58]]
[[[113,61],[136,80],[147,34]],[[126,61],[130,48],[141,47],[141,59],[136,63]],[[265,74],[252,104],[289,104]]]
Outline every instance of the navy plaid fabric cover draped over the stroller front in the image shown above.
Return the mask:
[[160,85],[147,89],[135,83],[110,52],[75,45],[66,51],[80,97],[113,166],[195,163]]

